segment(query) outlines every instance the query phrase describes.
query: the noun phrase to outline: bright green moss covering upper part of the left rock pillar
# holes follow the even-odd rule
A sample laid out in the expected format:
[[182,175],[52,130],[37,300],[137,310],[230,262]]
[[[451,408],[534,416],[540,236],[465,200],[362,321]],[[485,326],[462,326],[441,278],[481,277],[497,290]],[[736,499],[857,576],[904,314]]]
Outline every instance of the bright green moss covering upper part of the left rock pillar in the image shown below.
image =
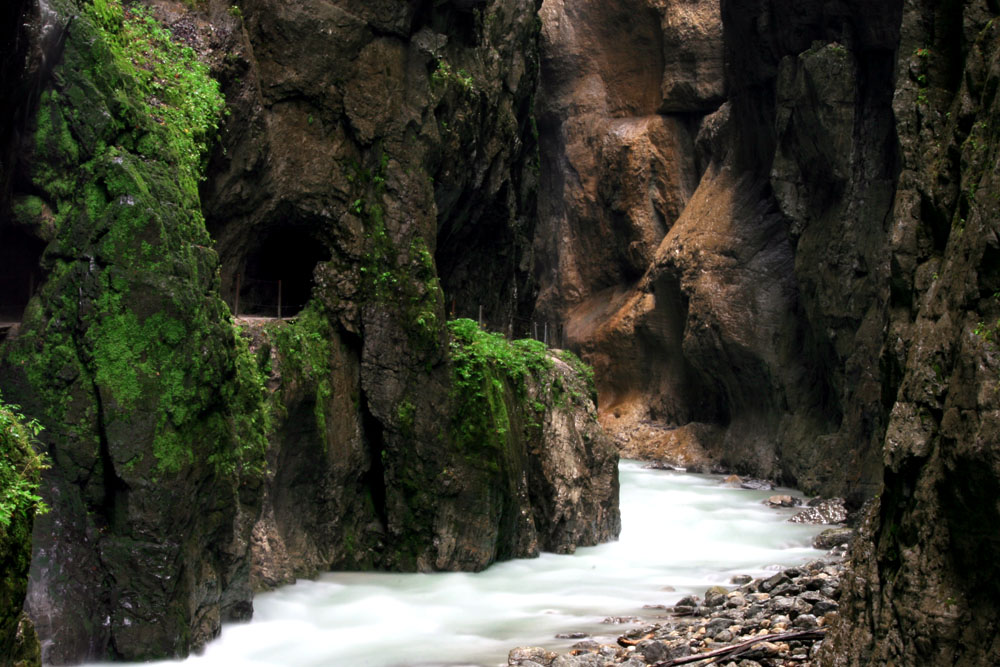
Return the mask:
[[56,238],[4,354],[81,440],[96,425],[67,420],[68,401],[93,392],[85,413],[128,425],[129,448],[160,472],[199,460],[260,471],[263,378],[218,298],[198,196],[218,84],[141,5],[53,3],[76,18],[41,96],[31,176]]

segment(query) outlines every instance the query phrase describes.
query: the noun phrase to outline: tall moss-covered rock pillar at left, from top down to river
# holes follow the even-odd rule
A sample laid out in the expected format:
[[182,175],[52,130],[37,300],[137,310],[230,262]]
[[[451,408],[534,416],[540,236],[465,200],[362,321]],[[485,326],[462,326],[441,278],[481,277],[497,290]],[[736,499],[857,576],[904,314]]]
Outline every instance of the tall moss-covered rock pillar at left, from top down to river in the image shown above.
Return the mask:
[[265,444],[198,195],[223,101],[141,5],[49,4],[69,30],[24,174],[47,279],[0,348],[53,460],[28,609],[48,662],[185,655],[250,613]]

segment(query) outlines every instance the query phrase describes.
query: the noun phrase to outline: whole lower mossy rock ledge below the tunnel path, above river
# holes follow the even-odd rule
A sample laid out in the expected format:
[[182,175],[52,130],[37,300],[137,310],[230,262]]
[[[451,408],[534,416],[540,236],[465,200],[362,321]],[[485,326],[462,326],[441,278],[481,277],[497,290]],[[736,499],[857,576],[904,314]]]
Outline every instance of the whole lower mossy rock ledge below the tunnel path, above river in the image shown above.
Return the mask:
[[449,383],[435,387],[437,435],[424,446],[425,409],[406,398],[383,429],[350,345],[325,322],[311,307],[246,324],[273,373],[277,425],[259,587],[334,567],[479,570],[618,534],[618,457],[579,359],[449,323]]

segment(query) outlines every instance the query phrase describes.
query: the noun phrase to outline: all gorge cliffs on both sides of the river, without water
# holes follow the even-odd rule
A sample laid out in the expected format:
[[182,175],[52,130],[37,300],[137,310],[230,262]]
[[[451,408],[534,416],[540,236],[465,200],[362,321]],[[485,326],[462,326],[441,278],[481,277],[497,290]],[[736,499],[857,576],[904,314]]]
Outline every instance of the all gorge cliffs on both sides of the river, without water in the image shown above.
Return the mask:
[[994,0],[0,11],[10,662],[607,541],[618,451],[846,498],[819,664],[1000,662]]

